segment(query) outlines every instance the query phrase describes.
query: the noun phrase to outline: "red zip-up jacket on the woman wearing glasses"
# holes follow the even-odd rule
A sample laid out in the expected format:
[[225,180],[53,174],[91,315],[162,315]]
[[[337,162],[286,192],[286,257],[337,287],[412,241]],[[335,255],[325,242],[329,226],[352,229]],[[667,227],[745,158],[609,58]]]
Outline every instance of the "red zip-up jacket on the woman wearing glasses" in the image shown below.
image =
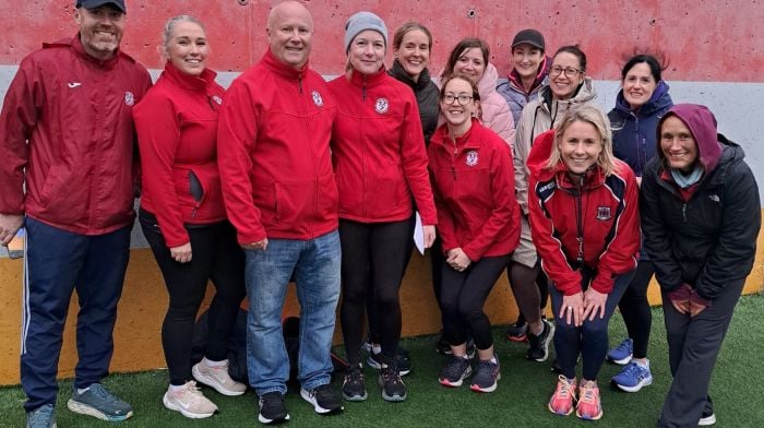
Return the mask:
[[443,252],[461,247],[469,260],[509,254],[520,242],[520,206],[510,146],[473,119],[455,142],[446,124],[428,148]]

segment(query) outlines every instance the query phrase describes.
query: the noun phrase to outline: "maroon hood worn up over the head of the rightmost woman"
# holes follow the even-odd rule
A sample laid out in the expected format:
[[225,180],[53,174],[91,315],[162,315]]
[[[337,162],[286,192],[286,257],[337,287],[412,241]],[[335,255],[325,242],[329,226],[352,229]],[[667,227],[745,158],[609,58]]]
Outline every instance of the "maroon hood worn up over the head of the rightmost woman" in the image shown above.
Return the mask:
[[660,128],[667,118],[676,116],[681,120],[692,133],[695,144],[697,144],[699,162],[705,173],[711,173],[716,168],[721,157],[721,145],[719,145],[716,132],[716,117],[705,106],[696,104],[677,104],[660,118],[657,132],[657,153],[661,165],[668,165],[664,151],[660,150]]

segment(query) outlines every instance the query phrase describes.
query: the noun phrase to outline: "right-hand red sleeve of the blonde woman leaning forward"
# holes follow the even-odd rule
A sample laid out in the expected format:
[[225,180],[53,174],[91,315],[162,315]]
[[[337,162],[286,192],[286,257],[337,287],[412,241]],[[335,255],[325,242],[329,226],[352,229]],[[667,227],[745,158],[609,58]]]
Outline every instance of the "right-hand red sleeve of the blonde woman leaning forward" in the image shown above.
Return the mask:
[[619,164],[616,173],[625,181],[623,211],[616,218],[614,235],[605,247],[597,263],[597,276],[592,281],[592,288],[608,294],[612,290],[616,276],[636,268],[636,254],[640,251],[640,211],[637,209],[638,190],[634,173],[625,164]]

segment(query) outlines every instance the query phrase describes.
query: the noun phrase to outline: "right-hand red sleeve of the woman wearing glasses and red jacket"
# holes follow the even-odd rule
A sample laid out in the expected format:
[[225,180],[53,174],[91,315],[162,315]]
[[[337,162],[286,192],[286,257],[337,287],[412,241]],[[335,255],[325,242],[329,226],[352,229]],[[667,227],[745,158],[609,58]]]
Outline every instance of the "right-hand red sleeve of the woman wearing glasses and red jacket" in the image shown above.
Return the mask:
[[515,200],[515,177],[512,168],[511,147],[505,145],[503,141],[501,143],[500,146],[493,146],[491,155],[490,192],[493,195],[493,211],[480,229],[480,234],[462,247],[465,254],[473,261],[482,258],[493,240],[502,235],[502,229],[512,221],[514,211],[518,210]]

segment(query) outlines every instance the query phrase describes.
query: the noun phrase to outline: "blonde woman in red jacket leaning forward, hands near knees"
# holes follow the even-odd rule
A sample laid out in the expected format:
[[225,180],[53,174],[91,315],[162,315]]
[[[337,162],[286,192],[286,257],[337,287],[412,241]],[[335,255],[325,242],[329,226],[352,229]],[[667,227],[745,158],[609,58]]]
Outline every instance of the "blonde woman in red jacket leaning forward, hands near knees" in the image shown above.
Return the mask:
[[565,115],[539,135],[528,156],[530,231],[549,287],[562,374],[549,409],[570,415],[575,365],[583,377],[576,415],[599,419],[597,373],[608,347],[608,321],[629,286],[640,249],[634,173],[612,155],[608,119],[594,106]]

